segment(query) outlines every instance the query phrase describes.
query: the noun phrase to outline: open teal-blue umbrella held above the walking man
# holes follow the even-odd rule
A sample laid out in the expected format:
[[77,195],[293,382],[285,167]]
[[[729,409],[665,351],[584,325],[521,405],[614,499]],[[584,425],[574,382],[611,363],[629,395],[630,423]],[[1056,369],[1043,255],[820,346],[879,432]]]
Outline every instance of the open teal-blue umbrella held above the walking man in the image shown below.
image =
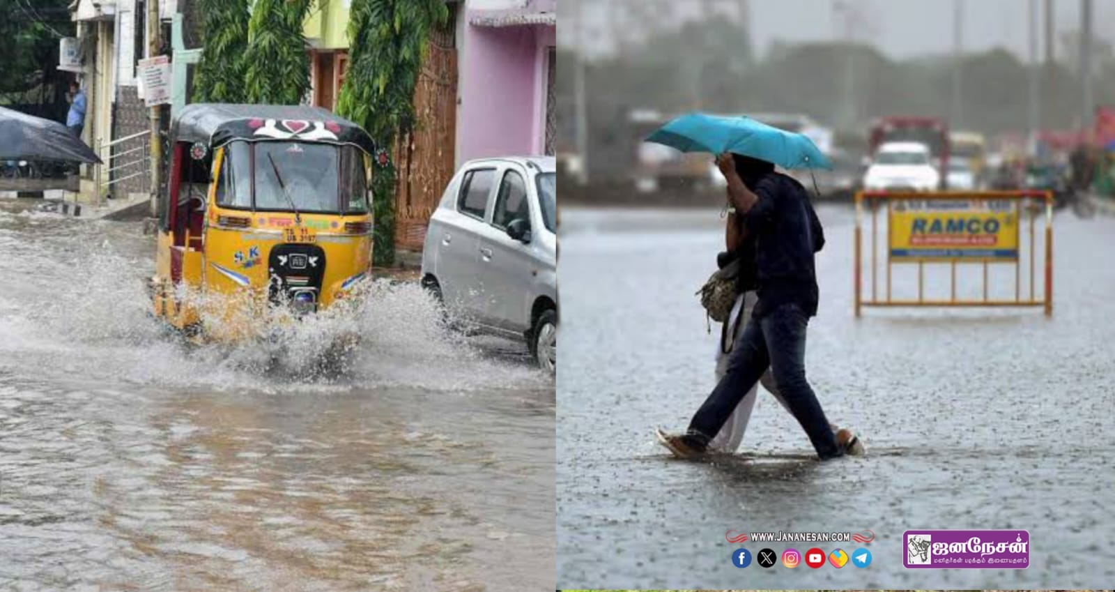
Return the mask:
[[774,163],[783,168],[827,168],[833,165],[813,140],[768,126],[750,117],[690,113],[655,130],[647,142],[681,152],[730,152]]

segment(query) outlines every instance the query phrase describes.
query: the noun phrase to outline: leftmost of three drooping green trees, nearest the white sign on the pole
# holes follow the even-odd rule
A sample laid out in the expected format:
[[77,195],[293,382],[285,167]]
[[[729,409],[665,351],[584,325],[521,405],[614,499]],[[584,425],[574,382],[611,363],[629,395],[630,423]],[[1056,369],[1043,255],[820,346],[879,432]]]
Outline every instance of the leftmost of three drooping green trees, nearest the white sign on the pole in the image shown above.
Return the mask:
[[198,0],[204,49],[197,65],[194,100],[244,103],[248,0]]

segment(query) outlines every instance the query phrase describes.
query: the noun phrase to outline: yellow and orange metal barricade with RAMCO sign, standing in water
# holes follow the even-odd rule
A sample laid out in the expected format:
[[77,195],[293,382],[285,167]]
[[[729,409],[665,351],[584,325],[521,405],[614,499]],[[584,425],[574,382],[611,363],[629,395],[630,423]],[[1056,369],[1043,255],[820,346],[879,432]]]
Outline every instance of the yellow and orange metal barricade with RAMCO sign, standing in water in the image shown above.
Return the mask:
[[[1045,232],[1039,233],[1043,214]],[[885,244],[880,245],[881,236]],[[1048,317],[1053,193],[859,192],[854,264],[856,317],[863,307],[1043,307]],[[1041,290],[1036,291],[1037,283]]]

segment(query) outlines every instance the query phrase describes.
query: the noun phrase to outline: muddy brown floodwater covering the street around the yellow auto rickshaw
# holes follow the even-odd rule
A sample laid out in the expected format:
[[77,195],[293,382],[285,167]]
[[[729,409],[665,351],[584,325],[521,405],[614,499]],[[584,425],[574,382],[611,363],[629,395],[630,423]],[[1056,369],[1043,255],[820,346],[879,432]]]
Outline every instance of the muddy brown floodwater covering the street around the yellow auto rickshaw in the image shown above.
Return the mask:
[[186,347],[138,223],[26,207],[0,203],[0,589],[551,589],[554,386],[517,347],[384,280],[343,376],[295,371],[336,323]]

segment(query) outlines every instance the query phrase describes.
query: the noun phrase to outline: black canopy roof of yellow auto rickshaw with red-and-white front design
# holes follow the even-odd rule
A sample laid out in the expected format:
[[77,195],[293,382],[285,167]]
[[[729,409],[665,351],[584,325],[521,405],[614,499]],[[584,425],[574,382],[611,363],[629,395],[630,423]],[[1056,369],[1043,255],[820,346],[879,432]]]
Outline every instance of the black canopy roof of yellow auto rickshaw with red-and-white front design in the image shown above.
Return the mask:
[[186,105],[175,118],[171,135],[175,142],[202,143],[210,148],[240,139],[350,144],[369,154],[376,151],[375,140],[360,126],[306,105]]

